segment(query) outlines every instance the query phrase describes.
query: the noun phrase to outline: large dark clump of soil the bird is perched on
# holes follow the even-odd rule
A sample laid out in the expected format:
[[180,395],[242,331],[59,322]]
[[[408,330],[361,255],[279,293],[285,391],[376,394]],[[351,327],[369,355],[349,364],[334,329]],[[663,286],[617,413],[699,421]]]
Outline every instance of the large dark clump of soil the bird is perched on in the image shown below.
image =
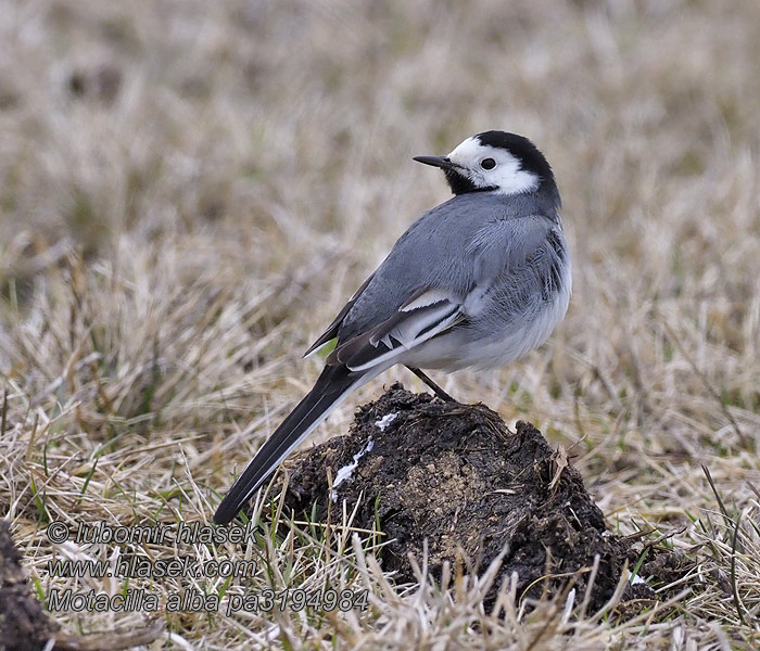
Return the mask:
[[[340,469],[351,464],[342,478]],[[533,425],[518,422],[510,432],[483,405],[443,403],[401,384],[359,408],[350,435],[314,448],[291,471],[286,506],[296,513],[312,515],[316,502],[325,521],[333,496],[350,508],[358,502],[356,527],[371,528],[379,518],[391,540],[383,569],[401,580],[414,580],[409,554],[421,560],[426,538],[433,576],[463,552],[484,570],[506,548],[501,577],[516,572],[518,589],[531,596],[560,589],[569,576],[584,595],[598,554],[590,603],[598,609],[641,551],[606,531],[580,473]],[[624,598],[654,597],[643,584],[633,588]]]

